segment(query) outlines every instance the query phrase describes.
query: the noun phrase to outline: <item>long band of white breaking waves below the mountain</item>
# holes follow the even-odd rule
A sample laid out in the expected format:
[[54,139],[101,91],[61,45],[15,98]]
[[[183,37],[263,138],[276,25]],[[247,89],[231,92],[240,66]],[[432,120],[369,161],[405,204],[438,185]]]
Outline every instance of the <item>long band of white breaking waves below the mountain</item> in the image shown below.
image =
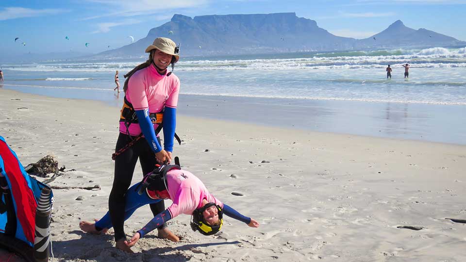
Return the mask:
[[[357,55],[354,55],[357,54]],[[299,54],[296,54],[299,56]],[[138,62],[50,63],[21,66],[5,65],[5,69],[41,72],[128,72]],[[422,50],[379,50],[316,54],[314,57],[283,59],[193,60],[177,63],[177,71],[200,70],[287,70],[287,69],[359,69],[401,67],[466,67],[466,48],[430,48]]]

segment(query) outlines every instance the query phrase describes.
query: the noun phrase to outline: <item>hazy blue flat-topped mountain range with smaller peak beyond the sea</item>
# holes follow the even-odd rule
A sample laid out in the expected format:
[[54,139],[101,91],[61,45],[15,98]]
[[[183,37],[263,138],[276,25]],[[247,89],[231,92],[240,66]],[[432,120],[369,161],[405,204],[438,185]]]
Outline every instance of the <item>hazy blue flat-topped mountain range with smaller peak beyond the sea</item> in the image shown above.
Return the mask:
[[406,27],[401,20],[373,36],[355,39],[329,33],[318,27],[315,20],[296,13],[194,17],[175,14],[169,22],[150,29],[146,37],[95,57],[140,57],[160,36],[181,43],[184,56],[466,46],[466,42],[441,33]]

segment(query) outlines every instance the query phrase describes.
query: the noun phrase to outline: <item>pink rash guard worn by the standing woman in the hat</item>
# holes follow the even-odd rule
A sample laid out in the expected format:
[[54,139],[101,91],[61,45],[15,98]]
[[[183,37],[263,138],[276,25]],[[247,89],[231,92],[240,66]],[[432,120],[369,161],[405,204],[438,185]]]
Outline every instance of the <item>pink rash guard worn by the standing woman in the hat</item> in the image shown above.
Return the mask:
[[[167,70],[168,72],[168,70]],[[149,109],[149,113],[158,113],[164,107],[176,108],[178,105],[178,93],[180,80],[174,74],[161,76],[154,65],[136,71],[128,82],[126,99],[133,104],[134,110]],[[158,124],[154,124],[154,130]],[[128,131],[137,136],[141,133],[139,124],[133,123]],[[124,122],[120,122],[120,132],[126,133]]]

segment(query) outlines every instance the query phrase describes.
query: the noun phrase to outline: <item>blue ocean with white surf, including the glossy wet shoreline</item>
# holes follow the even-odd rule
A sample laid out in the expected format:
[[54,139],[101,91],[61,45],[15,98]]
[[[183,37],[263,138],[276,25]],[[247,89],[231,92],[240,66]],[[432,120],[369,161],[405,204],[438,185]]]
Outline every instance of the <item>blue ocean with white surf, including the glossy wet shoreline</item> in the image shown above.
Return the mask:
[[[466,48],[181,56],[180,114],[466,144]],[[115,71],[122,86],[145,59],[3,64],[0,87],[119,107]]]

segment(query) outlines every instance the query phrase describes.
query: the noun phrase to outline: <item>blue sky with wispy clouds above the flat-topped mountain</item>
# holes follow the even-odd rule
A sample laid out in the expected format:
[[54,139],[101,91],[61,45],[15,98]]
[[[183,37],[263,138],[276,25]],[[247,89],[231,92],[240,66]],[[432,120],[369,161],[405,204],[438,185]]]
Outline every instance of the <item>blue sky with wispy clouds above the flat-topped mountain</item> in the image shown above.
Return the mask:
[[358,39],[399,19],[413,29],[466,41],[465,11],[466,0],[1,0],[0,55],[116,49],[130,44],[130,35],[134,41],[144,38],[174,14],[294,12],[330,33]]

